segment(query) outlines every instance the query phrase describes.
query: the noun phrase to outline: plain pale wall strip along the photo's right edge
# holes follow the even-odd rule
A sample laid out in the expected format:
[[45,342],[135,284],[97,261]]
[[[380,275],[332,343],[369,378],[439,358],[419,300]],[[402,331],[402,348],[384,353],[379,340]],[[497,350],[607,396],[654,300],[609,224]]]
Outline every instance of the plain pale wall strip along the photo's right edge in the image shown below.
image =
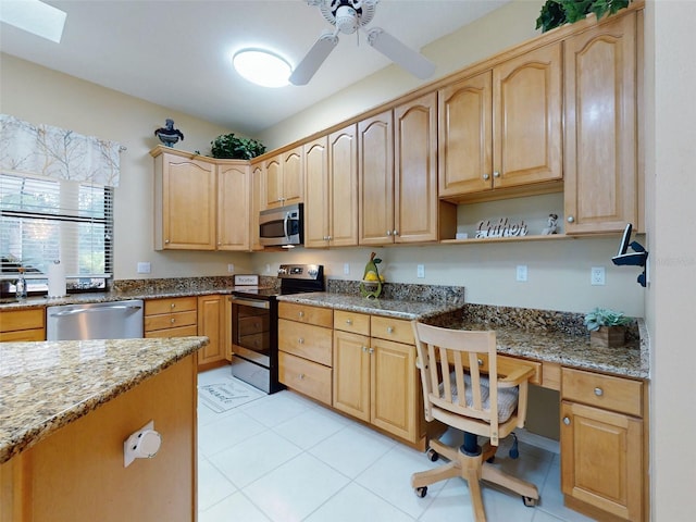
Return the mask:
[[[651,520],[693,520],[696,431],[691,321],[696,288],[696,145],[693,58],[696,11],[691,1],[646,7],[646,188],[651,340]],[[675,449],[679,448],[679,449]]]

